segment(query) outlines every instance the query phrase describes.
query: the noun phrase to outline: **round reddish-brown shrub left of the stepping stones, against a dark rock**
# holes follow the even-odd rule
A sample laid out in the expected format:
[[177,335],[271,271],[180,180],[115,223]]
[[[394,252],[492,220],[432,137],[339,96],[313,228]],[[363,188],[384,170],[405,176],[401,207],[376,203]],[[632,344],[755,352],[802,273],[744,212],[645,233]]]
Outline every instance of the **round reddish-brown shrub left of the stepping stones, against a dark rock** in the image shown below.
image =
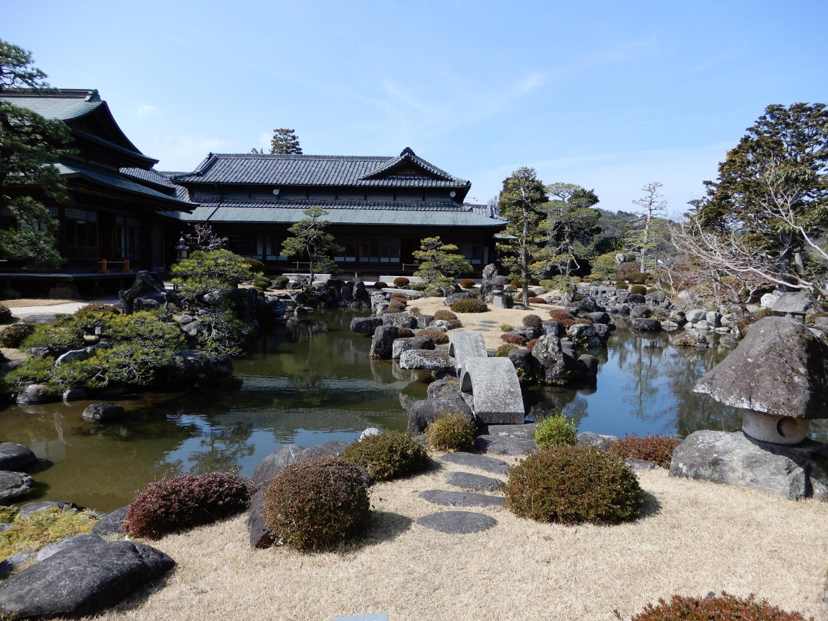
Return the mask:
[[359,466],[333,455],[281,469],[264,495],[264,520],[301,551],[344,542],[368,523],[371,506]]

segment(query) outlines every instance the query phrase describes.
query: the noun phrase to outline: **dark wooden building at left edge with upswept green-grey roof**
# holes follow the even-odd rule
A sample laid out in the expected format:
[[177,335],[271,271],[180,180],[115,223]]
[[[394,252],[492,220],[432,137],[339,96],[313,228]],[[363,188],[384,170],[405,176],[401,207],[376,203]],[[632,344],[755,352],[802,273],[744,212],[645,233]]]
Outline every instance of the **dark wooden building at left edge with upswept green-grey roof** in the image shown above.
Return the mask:
[[[0,264],[7,286],[18,286],[21,280],[51,284],[55,280],[100,282],[127,277],[122,272],[126,260],[129,272],[163,270],[170,256],[164,234],[169,218],[159,212],[169,214],[194,205],[176,195],[181,188],[152,170],[157,160],[140,152],[124,135],[98,91],[4,91],[0,98],[43,117],[60,119],[74,139],[70,145],[74,152],[55,164],[73,201],[70,205],[43,201],[59,222],[54,233],[65,263],[40,275],[22,273],[11,261]],[[15,190],[38,195],[37,188]],[[14,226],[11,215],[0,214],[0,225]],[[99,273],[102,259],[108,262],[109,274]]]

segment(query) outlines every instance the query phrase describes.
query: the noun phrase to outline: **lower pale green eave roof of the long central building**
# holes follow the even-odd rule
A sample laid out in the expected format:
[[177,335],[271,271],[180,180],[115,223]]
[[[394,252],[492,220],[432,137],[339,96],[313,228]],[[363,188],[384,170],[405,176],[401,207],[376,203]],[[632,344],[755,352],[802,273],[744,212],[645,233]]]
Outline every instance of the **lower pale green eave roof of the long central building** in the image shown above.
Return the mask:
[[502,227],[505,221],[489,218],[446,201],[394,200],[217,200],[203,201],[191,214],[166,214],[187,222],[298,222],[302,209],[319,206],[335,224],[409,224],[433,226]]

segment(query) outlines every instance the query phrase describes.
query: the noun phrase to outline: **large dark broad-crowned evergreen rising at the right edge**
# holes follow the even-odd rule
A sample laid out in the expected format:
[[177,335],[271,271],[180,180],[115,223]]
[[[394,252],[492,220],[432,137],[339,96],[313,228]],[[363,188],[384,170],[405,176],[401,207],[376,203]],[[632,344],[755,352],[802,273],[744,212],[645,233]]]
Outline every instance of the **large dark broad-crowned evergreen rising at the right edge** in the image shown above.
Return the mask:
[[774,270],[802,274],[803,236],[774,212],[784,201],[796,223],[816,235],[828,224],[828,108],[770,105],[746,131],[719,164],[718,179],[705,181],[694,217],[706,230],[738,229],[742,243],[761,248]]

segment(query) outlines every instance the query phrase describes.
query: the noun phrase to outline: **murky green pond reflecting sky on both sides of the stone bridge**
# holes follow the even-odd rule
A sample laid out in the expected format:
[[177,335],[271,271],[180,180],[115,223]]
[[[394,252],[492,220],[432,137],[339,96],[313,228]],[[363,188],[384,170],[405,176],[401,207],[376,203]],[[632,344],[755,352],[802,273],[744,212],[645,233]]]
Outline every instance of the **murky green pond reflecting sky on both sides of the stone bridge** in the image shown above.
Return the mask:
[[[369,426],[404,430],[407,408],[426,398],[431,373],[368,359],[370,339],[349,330],[353,316],[325,310],[288,320],[234,361],[239,390],[121,398],[128,416],[113,424],[85,422],[81,412],[90,401],[6,407],[0,440],[29,446],[44,460],[31,473],[36,488],[26,501],[70,500],[109,511],[153,479],[214,470],[249,476],[282,445],[354,440]],[[527,391],[529,416],[562,410],[579,431],[616,436],[740,428],[734,408],[692,392],[728,349],[679,351],[665,333],[643,336],[617,323],[607,349],[596,354],[595,386]],[[824,426],[811,430],[828,439]]]

